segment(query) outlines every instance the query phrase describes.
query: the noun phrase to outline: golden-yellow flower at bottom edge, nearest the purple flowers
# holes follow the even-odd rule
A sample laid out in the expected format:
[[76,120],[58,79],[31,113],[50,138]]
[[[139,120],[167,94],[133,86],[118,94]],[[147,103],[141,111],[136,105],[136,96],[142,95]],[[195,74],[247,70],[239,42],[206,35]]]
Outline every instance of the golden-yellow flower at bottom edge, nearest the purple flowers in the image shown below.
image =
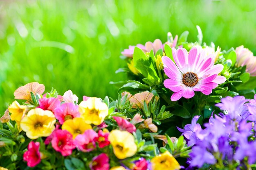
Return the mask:
[[158,155],[151,159],[152,170],[179,170],[180,164],[176,159],[166,151],[165,153]]

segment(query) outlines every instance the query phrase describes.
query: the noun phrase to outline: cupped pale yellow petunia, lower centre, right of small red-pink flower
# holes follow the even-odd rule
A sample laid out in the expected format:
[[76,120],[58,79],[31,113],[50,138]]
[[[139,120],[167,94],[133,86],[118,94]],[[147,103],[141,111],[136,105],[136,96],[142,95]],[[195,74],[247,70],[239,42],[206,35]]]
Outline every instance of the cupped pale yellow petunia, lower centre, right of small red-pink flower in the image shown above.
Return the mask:
[[114,154],[118,159],[125,159],[135,155],[137,145],[134,142],[134,137],[128,131],[113,130],[108,135]]

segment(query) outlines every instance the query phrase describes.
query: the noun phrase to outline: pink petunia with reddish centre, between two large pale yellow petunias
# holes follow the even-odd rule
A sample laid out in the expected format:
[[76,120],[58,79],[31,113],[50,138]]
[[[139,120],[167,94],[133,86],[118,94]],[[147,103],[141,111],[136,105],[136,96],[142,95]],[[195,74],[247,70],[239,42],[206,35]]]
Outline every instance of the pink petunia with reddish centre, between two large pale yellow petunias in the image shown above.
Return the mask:
[[78,105],[74,103],[63,103],[61,106],[54,109],[56,119],[63,124],[65,120],[73,119],[80,116]]

